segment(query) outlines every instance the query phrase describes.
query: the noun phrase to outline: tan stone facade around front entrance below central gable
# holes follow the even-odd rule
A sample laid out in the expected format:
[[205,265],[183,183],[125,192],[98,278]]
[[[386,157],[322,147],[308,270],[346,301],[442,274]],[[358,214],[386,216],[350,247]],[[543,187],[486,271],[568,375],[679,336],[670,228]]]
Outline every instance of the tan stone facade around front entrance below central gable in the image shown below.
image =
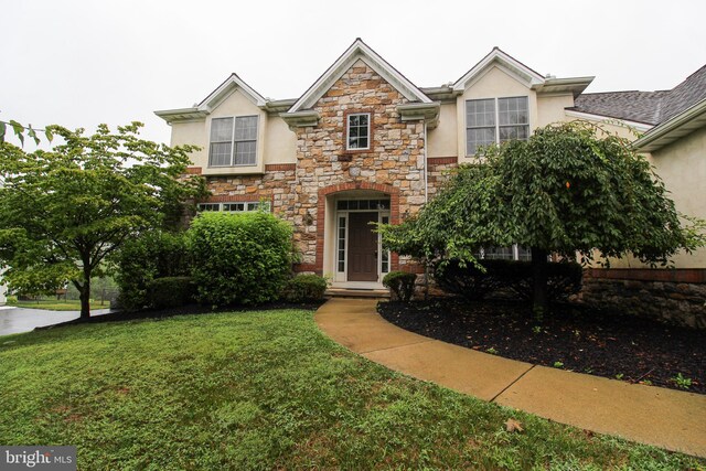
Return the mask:
[[[323,214],[320,199],[351,189],[389,189],[392,223],[425,203],[424,122],[402,122],[397,106],[408,100],[359,61],[312,107],[317,127],[297,128],[297,214],[311,214],[315,237],[302,239],[303,265],[323,270]],[[347,113],[371,113],[371,148],[345,150]],[[325,191],[330,189],[331,191]],[[322,191],[323,190],[323,191]],[[402,265],[405,260],[399,260]],[[397,260],[393,259],[393,268]]]

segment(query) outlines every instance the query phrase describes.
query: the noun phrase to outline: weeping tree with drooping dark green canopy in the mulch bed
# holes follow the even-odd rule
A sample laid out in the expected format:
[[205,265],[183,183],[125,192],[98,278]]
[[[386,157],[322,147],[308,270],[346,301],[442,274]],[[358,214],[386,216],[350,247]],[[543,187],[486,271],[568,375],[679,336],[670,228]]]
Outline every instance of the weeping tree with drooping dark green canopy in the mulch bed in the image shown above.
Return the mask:
[[481,247],[532,248],[534,306],[546,309],[549,254],[582,263],[629,254],[667,265],[702,244],[630,142],[585,122],[550,125],[461,165],[416,217],[381,227],[386,248],[475,263]]

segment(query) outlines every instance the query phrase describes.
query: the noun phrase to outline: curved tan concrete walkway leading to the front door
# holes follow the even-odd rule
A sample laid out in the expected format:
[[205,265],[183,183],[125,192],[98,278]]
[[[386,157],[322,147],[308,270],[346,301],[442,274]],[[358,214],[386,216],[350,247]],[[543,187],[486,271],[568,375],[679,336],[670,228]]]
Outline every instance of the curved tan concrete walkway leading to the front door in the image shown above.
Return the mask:
[[373,362],[483,400],[599,433],[706,458],[706,396],[502,358],[421,336],[377,301],[331,299],[315,314],[334,341]]

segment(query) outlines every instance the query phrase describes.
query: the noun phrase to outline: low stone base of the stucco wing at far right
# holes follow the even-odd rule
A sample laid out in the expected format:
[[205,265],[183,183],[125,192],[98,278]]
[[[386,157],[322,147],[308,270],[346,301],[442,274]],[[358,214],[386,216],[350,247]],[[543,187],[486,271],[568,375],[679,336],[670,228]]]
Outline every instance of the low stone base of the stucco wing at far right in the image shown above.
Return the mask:
[[706,329],[706,269],[588,269],[578,301]]

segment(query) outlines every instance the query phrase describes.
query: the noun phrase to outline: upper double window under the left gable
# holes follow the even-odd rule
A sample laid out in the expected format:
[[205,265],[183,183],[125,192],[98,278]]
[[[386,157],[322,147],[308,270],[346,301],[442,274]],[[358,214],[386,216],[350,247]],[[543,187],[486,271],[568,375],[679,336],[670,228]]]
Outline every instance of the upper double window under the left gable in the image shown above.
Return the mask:
[[257,116],[211,120],[208,167],[255,165]]

